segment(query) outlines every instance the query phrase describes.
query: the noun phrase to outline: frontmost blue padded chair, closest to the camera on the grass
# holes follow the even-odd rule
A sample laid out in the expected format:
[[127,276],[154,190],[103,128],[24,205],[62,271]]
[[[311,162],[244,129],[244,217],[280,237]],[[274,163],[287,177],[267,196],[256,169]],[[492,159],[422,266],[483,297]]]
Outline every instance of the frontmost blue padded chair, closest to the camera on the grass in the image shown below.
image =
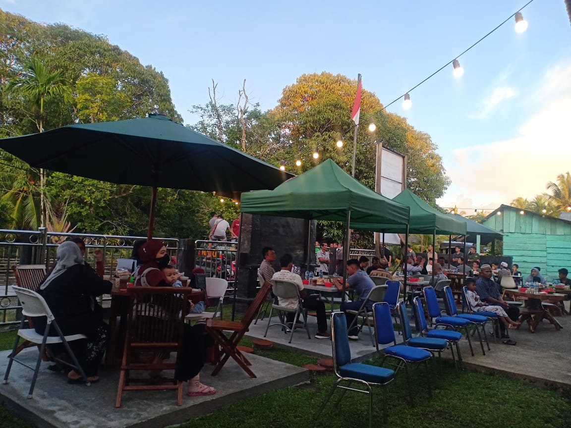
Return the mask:
[[[331,314],[331,347],[333,348],[333,370],[339,379],[329,390],[327,397],[317,410],[315,418],[319,417],[325,405],[331,399],[337,387],[343,389],[343,393],[337,399],[341,401],[345,391],[356,391],[369,394],[369,428],[372,426],[373,390],[371,385],[383,386],[383,415],[387,422],[387,390],[384,387],[395,378],[395,371],[384,367],[372,366],[361,362],[351,362],[351,349],[347,337],[347,318],[343,312]],[[360,383],[366,389],[351,387],[352,383]],[[337,404],[336,403],[336,404]]]

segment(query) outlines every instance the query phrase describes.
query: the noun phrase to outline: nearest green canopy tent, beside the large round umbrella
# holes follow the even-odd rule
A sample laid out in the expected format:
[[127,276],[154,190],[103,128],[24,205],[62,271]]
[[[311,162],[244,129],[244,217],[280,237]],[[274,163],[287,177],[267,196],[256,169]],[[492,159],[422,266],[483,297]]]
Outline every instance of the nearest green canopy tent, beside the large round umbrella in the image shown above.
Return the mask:
[[[343,221],[347,229],[344,260],[348,260],[350,230],[357,228],[356,224],[361,229],[375,224],[406,229],[409,221],[408,207],[365,187],[331,159],[285,181],[272,191],[242,193],[240,211],[307,220]],[[343,272],[345,278],[345,267]]]

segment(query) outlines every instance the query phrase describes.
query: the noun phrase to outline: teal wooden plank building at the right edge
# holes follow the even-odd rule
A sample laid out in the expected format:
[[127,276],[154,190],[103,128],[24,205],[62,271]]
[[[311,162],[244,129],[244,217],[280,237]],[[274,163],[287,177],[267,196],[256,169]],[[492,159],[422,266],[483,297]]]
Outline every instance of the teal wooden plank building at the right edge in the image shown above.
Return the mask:
[[500,205],[482,224],[504,233],[504,256],[513,256],[524,277],[536,266],[550,279],[560,268],[571,272],[571,221]]

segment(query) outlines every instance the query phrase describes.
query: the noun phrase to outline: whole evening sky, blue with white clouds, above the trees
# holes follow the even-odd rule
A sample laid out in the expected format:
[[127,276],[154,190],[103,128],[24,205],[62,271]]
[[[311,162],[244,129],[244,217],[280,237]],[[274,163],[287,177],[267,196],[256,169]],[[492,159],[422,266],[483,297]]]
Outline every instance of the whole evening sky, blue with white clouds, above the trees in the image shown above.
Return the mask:
[[[242,80],[250,99],[272,108],[308,72],[356,78],[387,104],[520,9],[525,0],[151,2],[0,0],[38,22],[63,22],[152,64],[170,81],[186,123],[208,101],[211,79],[223,103]],[[439,200],[464,211],[533,197],[568,171],[571,139],[571,26],[563,0],[534,0],[452,66],[389,111],[407,117],[439,146],[452,185]],[[349,112],[348,112],[349,114]]]

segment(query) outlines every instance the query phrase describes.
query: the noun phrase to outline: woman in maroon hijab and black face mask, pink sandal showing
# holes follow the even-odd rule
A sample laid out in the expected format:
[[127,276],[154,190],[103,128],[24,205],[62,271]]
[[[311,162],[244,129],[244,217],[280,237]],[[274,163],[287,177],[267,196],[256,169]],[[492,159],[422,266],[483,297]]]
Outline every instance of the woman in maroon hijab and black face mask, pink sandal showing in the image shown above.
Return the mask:
[[[170,257],[162,241],[147,241],[139,248],[139,260],[143,265],[136,275],[135,286],[164,287],[170,286],[161,270],[167,267]],[[184,324],[184,342],[180,350],[179,365],[175,370],[178,381],[188,381],[187,395],[216,394],[216,389],[200,383],[200,370],[204,366],[204,324],[190,326]]]

